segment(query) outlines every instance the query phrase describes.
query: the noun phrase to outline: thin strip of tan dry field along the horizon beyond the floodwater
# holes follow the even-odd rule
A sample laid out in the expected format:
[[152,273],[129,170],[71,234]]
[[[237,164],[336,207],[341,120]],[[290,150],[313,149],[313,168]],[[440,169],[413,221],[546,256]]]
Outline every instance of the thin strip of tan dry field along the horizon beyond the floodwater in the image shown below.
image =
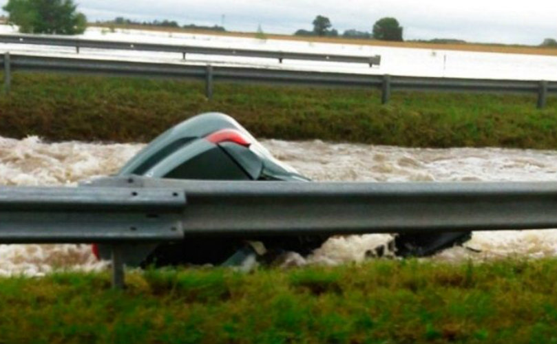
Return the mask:
[[[189,28],[162,28],[147,25],[103,25],[90,24],[90,27],[105,28],[105,30],[149,30],[158,32],[168,32],[168,34],[208,34],[211,36],[231,36],[244,37],[250,39],[260,39],[257,32],[222,32],[215,30],[192,30]],[[379,41],[377,39],[350,39],[346,37],[319,37],[319,36],[292,36],[288,34],[264,34],[265,39],[280,39],[283,41],[306,41],[318,43],[338,43],[354,45],[372,45],[379,47],[411,47],[430,50],[461,50],[465,52],[500,52],[504,54],[529,54],[529,55],[557,55],[555,47],[540,47],[536,45],[521,44],[501,44],[501,43],[433,43],[419,41]]]

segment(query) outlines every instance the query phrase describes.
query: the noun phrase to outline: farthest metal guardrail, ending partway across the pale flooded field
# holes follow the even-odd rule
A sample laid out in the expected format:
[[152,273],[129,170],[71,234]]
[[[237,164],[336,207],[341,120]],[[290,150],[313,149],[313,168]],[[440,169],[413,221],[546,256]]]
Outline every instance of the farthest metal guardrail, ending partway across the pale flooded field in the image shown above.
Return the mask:
[[280,63],[283,60],[306,60],[324,62],[348,62],[348,63],[367,63],[379,65],[381,56],[355,56],[341,54],[317,54],[311,52],[283,52],[273,50],[253,50],[235,49],[227,47],[200,47],[195,45],[169,45],[158,43],[141,42],[122,42],[122,41],[100,41],[92,39],[75,39],[60,36],[36,36],[25,34],[1,34],[0,43],[18,43],[33,45],[57,45],[63,47],[75,47],[79,54],[81,48],[109,49],[109,50],[140,50],[147,52],[176,52],[182,54],[186,59],[186,54],[208,54],[221,56],[244,56],[258,58],[275,58]]

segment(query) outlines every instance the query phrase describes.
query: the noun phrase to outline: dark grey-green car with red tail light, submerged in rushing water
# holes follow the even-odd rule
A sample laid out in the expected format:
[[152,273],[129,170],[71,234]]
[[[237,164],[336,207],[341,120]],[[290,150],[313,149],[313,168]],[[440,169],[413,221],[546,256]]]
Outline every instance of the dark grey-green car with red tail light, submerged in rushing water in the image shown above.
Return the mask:
[[[265,147],[230,116],[201,114],[162,133],[129,160],[118,175],[196,180],[253,180],[264,182],[310,180],[275,159]],[[432,235],[403,234],[393,241],[395,254],[431,255],[461,244],[470,232]],[[284,237],[197,238],[175,244],[129,248],[129,265],[224,264],[237,265],[248,257],[275,257],[293,251],[307,255],[328,239],[325,235]],[[370,248],[374,249],[374,248]],[[109,247],[94,245],[97,257],[109,258]],[[127,257],[127,258],[126,258]]]

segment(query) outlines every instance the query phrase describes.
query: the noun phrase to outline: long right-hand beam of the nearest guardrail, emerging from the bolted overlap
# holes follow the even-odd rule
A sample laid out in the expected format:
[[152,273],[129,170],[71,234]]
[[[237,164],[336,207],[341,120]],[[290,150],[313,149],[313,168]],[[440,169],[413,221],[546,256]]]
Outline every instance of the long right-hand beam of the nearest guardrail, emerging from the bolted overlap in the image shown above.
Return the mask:
[[304,235],[557,228],[557,182],[223,182],[107,178],[171,188],[188,235]]

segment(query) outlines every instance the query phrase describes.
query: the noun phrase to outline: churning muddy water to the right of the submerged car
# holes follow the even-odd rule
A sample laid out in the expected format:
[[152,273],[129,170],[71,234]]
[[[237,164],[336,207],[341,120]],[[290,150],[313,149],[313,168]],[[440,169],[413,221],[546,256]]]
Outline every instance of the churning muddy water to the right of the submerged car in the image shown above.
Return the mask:
[[[555,181],[557,151],[500,148],[419,149],[330,144],[319,140],[264,140],[277,158],[319,181],[465,182]],[[299,264],[362,261],[367,250],[386,244],[390,235],[350,235],[329,239]],[[557,255],[557,229],[474,232],[465,246],[443,250],[432,259],[495,259]]]

